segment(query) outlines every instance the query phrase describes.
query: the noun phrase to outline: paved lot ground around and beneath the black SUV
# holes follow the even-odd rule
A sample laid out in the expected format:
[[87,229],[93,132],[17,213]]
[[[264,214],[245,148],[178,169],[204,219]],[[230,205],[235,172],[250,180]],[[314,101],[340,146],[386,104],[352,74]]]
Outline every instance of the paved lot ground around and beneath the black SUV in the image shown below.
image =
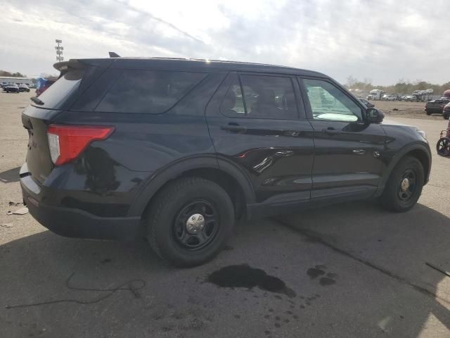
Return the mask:
[[[21,207],[30,96],[0,92],[0,337],[450,337],[450,278],[425,265],[450,270],[450,158],[433,150],[409,213],[356,202],[240,223],[217,259],[174,269],[145,242],[67,239],[7,215]],[[432,149],[446,127],[394,119]]]

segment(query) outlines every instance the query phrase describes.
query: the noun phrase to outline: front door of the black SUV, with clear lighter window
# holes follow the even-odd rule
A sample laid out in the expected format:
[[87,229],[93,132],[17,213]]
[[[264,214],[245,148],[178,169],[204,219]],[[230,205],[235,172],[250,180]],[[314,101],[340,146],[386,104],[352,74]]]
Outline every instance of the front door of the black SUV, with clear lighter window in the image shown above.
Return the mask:
[[370,196],[380,184],[386,135],[380,124],[364,123],[364,106],[330,80],[300,78],[314,128],[312,198]]

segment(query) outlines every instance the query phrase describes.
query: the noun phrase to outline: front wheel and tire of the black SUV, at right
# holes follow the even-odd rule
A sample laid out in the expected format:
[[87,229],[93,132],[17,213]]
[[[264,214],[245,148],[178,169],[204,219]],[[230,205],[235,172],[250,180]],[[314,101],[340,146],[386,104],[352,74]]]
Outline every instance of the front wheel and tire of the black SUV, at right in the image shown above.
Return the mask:
[[[402,187],[401,183],[406,178],[409,187],[404,190],[406,184]],[[388,211],[397,213],[409,211],[417,203],[424,181],[425,173],[422,163],[415,157],[405,156],[392,170],[389,180],[387,180],[385,190],[380,196],[381,205]]]

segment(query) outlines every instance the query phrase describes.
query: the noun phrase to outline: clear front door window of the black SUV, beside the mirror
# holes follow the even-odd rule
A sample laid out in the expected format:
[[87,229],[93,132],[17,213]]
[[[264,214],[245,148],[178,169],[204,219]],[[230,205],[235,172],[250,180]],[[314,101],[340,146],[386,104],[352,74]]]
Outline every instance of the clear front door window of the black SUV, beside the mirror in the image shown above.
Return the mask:
[[314,120],[356,122],[361,108],[330,82],[303,79]]

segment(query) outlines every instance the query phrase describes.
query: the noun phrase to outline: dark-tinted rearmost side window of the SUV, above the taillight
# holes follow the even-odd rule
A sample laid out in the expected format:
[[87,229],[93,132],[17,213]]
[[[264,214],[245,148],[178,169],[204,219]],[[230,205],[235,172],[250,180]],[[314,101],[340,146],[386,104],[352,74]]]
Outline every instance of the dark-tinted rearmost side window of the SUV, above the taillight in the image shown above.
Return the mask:
[[124,70],[96,111],[158,114],[172,108],[205,73]]

